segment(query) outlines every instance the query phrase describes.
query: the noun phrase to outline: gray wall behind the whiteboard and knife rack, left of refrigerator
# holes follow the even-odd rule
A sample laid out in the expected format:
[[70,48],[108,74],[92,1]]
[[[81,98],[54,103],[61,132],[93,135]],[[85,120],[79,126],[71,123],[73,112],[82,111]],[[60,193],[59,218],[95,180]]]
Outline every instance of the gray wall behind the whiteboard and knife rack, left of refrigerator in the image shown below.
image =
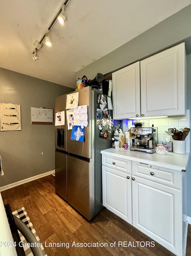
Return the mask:
[[0,102],[21,105],[21,131],[0,132],[4,171],[0,187],[55,169],[55,126],[32,125],[31,107],[54,109],[55,97],[71,91],[72,88],[0,68]]

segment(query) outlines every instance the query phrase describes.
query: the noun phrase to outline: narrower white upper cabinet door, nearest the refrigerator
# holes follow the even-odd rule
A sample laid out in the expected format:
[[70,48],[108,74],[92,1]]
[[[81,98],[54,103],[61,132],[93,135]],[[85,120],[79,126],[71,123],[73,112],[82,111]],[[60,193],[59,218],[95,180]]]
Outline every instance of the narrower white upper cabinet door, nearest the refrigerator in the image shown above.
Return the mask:
[[113,119],[140,117],[140,62],[112,73]]

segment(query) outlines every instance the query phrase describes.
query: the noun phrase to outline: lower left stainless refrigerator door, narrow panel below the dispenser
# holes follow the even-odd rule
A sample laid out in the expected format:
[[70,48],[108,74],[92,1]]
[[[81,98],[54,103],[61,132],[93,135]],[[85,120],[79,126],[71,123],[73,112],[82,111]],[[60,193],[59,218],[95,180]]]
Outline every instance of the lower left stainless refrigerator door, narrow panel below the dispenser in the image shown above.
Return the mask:
[[55,151],[56,194],[67,201],[67,155]]

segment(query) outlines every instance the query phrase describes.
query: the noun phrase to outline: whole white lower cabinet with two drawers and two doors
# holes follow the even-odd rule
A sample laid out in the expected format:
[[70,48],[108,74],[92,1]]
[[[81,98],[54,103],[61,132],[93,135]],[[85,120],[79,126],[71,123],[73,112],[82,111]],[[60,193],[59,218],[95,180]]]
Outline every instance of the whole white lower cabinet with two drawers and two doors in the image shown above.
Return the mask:
[[185,172],[102,154],[103,205],[178,256],[186,236],[184,184]]

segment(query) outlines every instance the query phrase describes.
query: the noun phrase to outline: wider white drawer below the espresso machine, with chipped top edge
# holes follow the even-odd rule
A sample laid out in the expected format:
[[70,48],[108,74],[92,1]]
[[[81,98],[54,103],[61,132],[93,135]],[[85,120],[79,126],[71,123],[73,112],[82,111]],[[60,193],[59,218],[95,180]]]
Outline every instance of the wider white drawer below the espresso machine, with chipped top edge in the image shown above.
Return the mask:
[[181,172],[154,165],[132,162],[132,174],[181,189]]

